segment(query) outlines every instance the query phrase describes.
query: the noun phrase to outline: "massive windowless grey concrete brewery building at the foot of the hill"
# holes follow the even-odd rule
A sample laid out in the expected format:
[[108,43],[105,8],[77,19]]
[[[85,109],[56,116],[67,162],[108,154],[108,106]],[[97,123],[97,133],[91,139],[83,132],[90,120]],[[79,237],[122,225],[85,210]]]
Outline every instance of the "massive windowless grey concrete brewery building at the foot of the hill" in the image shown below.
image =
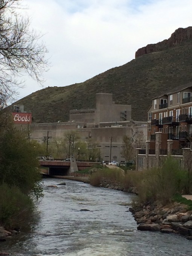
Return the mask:
[[[105,161],[122,161],[123,136],[132,137],[143,132],[143,144],[147,139],[147,123],[131,120],[131,105],[117,105],[113,103],[111,93],[96,94],[96,108],[83,110],[70,110],[69,122],[57,123],[32,123],[30,125],[31,139],[39,143],[44,142],[44,137],[59,140],[64,133],[78,131],[82,140],[90,138],[99,148],[101,158]],[[111,149],[111,155],[110,155]]]

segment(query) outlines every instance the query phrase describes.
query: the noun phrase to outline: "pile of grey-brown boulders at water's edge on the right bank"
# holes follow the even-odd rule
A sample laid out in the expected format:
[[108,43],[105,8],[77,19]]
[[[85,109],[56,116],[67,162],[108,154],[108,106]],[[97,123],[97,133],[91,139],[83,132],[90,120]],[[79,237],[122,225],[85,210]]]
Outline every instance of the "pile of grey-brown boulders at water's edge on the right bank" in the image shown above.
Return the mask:
[[165,206],[159,203],[146,203],[129,208],[138,230],[176,233],[192,240],[192,211],[186,204],[170,203]]

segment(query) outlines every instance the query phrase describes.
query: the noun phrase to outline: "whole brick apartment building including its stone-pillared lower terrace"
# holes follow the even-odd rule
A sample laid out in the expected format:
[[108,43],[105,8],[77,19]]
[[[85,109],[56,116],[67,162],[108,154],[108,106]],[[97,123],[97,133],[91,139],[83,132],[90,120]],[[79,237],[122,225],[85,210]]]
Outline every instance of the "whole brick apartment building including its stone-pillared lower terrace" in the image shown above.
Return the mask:
[[137,170],[160,166],[166,155],[184,164],[192,152],[192,83],[152,99],[147,137],[146,149],[136,150]]

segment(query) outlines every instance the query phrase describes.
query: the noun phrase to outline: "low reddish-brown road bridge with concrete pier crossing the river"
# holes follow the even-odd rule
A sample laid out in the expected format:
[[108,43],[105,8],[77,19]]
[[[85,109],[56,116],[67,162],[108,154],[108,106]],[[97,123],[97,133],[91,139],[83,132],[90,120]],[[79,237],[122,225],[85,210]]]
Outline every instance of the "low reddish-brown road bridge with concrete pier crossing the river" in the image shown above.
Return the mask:
[[49,175],[69,175],[72,172],[79,170],[84,170],[95,164],[100,164],[98,162],[76,162],[75,158],[70,158],[70,162],[61,160],[40,160],[40,165],[42,167],[48,167]]

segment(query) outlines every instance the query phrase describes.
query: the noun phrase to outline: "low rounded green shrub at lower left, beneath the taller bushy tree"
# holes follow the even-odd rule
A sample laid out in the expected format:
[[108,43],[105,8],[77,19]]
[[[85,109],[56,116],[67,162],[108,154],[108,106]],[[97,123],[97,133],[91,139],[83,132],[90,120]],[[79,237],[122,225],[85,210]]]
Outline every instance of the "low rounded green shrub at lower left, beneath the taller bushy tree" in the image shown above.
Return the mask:
[[16,187],[0,185],[0,225],[7,229],[26,229],[34,211],[32,199]]

